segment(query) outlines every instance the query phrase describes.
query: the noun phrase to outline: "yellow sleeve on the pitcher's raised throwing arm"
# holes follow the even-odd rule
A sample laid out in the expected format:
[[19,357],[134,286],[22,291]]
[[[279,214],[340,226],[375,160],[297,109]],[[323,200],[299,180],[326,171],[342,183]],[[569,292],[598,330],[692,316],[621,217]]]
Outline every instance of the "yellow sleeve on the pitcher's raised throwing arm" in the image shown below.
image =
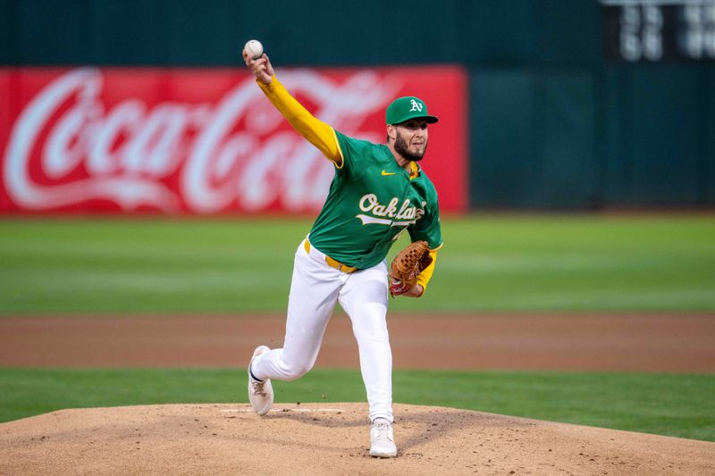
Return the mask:
[[337,167],[342,166],[341,149],[332,127],[315,118],[303,107],[303,104],[300,104],[295,97],[290,96],[288,90],[276,79],[275,75],[269,85],[258,80],[256,82],[268,100],[290,122],[293,129],[296,129],[301,136],[317,147]]

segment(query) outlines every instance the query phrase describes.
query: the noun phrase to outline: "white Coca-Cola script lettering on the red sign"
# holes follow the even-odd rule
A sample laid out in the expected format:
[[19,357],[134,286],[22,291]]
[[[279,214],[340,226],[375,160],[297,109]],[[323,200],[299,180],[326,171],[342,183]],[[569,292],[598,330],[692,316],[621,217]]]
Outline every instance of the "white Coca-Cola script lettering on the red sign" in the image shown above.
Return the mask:
[[[316,117],[374,142],[384,132],[361,129],[364,121],[400,89],[374,71],[341,81],[283,71],[281,79],[315,104]],[[23,106],[4,150],[4,189],[14,204],[38,211],[99,199],[163,213],[315,211],[323,204],[332,164],[286,128],[252,78],[240,76],[208,103],[127,96],[108,105],[103,88],[104,71],[80,68]]]

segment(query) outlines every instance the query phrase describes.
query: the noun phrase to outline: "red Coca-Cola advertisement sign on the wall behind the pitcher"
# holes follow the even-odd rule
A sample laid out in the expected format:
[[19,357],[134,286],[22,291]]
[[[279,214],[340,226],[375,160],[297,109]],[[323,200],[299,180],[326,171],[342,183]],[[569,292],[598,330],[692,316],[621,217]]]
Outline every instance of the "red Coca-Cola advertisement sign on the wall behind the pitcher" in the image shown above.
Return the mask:
[[[385,141],[384,111],[440,117],[421,163],[442,211],[467,209],[467,76],[457,67],[277,71],[318,119]],[[2,213],[313,213],[332,163],[247,71],[0,69]]]

